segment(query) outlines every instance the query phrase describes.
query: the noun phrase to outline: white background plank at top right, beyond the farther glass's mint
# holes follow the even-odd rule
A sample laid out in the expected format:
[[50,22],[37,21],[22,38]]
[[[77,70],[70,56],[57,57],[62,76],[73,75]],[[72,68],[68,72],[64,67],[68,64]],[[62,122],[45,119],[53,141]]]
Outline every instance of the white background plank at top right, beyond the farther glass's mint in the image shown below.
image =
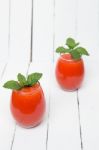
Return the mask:
[[[93,57],[99,54],[99,1],[79,0],[77,38],[90,52]],[[97,56],[96,56],[97,53]]]

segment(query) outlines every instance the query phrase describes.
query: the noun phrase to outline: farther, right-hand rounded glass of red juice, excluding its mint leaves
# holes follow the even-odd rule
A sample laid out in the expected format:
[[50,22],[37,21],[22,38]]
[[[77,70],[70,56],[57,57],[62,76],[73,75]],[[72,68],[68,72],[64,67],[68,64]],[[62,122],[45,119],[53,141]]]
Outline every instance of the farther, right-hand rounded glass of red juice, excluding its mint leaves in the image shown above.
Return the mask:
[[74,91],[81,87],[84,79],[83,59],[73,59],[71,54],[61,54],[55,68],[55,76],[60,87]]

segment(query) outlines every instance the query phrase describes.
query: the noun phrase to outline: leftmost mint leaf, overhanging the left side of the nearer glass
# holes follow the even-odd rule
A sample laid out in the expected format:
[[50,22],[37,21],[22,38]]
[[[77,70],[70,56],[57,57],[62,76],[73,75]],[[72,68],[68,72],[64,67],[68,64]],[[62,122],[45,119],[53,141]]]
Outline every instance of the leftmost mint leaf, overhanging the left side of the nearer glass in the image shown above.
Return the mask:
[[19,85],[19,83],[17,81],[14,81],[14,80],[10,80],[10,81],[6,82],[3,85],[3,87],[7,88],[7,89],[12,89],[12,90],[19,90],[19,89],[21,89],[21,86]]

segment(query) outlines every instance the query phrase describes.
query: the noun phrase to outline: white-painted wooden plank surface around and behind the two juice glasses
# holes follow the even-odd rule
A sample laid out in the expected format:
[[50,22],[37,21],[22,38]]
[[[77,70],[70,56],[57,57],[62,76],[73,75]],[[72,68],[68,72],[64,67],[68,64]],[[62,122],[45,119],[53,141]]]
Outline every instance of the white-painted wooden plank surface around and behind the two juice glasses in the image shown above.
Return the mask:
[[[0,150],[99,150],[99,0],[0,0]],[[69,36],[89,50],[82,88],[62,91],[54,76],[55,49]],[[31,61],[32,58],[32,61]],[[5,81],[39,71],[46,96],[43,123],[19,127]]]

